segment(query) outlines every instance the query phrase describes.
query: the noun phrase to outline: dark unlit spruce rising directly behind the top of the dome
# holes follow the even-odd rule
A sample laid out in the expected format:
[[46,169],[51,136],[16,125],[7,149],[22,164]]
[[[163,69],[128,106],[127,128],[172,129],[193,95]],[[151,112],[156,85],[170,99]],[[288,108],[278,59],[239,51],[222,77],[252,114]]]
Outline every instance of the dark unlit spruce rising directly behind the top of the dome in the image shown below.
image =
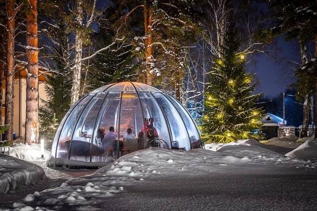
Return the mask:
[[[99,21],[97,33],[93,36],[93,41],[97,49],[104,48],[113,42],[116,36],[115,16],[116,8],[107,8],[103,13],[104,18]],[[128,34],[128,35],[127,35]],[[122,36],[133,36],[131,30],[123,32]],[[137,75],[135,69],[137,63],[131,53],[132,45],[129,40],[117,41],[117,44],[100,52],[94,57],[92,71],[89,71],[89,84],[93,89],[104,86],[111,82],[134,81]]]

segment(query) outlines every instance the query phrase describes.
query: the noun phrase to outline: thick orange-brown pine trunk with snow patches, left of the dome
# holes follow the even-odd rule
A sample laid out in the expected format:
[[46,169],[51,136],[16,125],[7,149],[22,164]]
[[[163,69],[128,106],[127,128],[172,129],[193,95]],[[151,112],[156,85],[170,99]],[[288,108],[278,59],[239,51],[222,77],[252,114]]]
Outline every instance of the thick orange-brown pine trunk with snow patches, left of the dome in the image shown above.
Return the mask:
[[25,142],[38,143],[38,48],[37,48],[37,0],[29,0],[26,10],[26,120]]

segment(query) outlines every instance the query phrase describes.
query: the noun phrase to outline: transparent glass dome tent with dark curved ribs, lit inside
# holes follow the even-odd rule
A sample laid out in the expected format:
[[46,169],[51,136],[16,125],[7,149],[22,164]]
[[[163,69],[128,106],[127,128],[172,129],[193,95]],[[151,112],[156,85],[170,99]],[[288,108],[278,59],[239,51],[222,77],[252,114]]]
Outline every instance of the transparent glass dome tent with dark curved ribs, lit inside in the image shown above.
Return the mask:
[[[60,167],[56,158],[107,161],[107,155],[100,152],[97,131],[104,128],[107,133],[110,126],[115,129],[117,145],[124,143],[124,153],[147,148],[147,134],[143,141],[138,134],[147,128],[150,117],[159,135],[156,146],[183,150],[204,146],[195,121],[175,98],[144,83],[118,82],[88,93],[69,109],[56,131],[48,165]],[[128,128],[134,137],[129,143],[125,139]]]

